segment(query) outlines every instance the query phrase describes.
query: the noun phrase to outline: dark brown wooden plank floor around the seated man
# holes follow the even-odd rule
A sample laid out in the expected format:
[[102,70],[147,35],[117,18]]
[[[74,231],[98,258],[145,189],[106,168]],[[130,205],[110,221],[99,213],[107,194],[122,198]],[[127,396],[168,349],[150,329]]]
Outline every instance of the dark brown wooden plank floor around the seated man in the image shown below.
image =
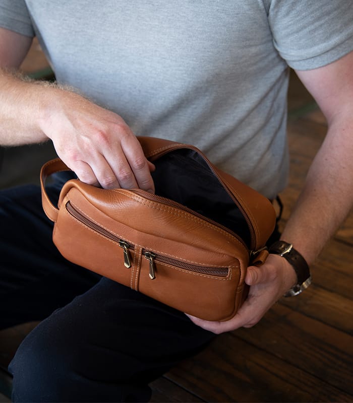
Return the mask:
[[[34,68],[31,60],[39,60],[39,65]],[[26,70],[42,67],[46,67],[45,61],[33,49]],[[288,108],[291,174],[289,186],[281,194],[281,225],[288,219],[326,130],[323,115],[295,74]],[[35,148],[33,151],[40,155],[34,166],[51,153],[49,148],[37,150],[37,154]],[[17,150],[18,155],[21,152]],[[14,158],[16,152],[9,150],[0,186],[21,180],[23,172],[11,169]],[[30,174],[27,171],[27,177]],[[37,177],[35,167],[33,174]],[[253,328],[221,334],[198,356],[154,381],[152,401],[352,402],[352,269],[353,212],[312,267],[314,284],[305,293],[281,299]],[[0,365],[9,362],[31,326],[0,332]],[[0,401],[9,400],[0,395]]]

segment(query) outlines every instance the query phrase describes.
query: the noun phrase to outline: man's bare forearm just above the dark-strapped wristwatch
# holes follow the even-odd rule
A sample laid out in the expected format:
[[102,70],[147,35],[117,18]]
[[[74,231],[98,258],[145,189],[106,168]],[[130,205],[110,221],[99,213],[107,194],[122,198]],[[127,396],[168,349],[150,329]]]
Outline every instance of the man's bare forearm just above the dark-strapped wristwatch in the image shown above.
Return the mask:
[[309,169],[303,191],[282,234],[282,239],[292,243],[309,265],[352,207],[351,116],[351,111],[342,111],[330,122],[326,139]]

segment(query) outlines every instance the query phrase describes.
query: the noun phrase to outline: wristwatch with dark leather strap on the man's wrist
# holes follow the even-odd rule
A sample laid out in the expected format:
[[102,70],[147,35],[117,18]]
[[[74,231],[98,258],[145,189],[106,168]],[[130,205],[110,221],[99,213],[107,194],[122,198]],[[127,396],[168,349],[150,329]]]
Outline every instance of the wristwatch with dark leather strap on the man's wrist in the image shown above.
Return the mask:
[[274,253],[284,257],[293,267],[297,274],[297,284],[284,294],[284,297],[293,297],[300,294],[311,284],[311,275],[308,263],[304,257],[293,248],[293,245],[284,241],[275,242],[270,248],[269,253]]

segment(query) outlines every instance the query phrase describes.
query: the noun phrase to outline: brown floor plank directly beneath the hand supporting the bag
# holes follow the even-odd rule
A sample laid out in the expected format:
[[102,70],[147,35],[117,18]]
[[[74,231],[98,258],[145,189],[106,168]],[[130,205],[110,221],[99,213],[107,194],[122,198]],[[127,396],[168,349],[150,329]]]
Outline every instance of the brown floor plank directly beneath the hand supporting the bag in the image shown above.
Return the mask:
[[315,374],[322,382],[345,390],[353,398],[351,335],[282,304],[270,309],[255,327],[241,328],[234,334],[304,372]]

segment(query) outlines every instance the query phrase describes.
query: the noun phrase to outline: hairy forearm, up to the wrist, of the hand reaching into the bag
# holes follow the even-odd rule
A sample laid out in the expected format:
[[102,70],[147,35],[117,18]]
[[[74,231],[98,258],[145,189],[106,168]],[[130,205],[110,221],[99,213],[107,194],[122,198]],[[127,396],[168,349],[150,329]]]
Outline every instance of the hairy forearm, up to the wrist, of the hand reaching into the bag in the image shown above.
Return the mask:
[[40,128],[40,118],[50,85],[0,70],[0,145],[14,146],[48,140]]

